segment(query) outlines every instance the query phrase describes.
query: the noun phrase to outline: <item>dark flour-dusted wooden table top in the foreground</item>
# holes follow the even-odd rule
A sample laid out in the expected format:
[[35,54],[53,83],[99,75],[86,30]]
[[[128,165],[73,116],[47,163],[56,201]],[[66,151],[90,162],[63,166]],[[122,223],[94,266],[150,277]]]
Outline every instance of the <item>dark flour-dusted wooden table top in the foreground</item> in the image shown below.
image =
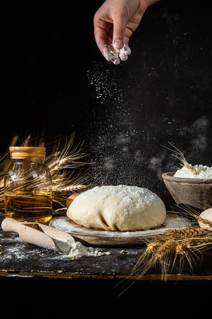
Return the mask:
[[[63,215],[62,215],[63,216]],[[64,213],[65,216],[65,213]],[[58,217],[58,216],[54,216]],[[0,217],[2,223],[4,217]],[[23,242],[15,232],[5,232],[0,228],[0,276],[41,276],[46,278],[129,278],[145,245],[141,241],[135,247],[94,247],[101,256],[82,256],[69,258],[66,254],[44,249]],[[108,254],[109,253],[109,254]],[[212,280],[212,250],[206,250],[193,256],[192,270],[188,260],[184,260],[183,269],[179,264],[167,280]],[[161,267],[150,268],[142,277],[133,275],[139,281],[161,280]]]

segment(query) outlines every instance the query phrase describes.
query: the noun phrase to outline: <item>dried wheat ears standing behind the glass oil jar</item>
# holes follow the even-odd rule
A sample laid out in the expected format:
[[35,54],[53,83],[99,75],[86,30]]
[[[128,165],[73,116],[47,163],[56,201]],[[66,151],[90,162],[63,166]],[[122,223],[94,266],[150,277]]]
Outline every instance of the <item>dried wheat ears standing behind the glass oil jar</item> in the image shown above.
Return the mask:
[[[52,176],[53,202],[62,206],[72,193],[86,189],[89,185],[89,175],[86,174],[83,162],[88,154],[82,150],[82,144],[74,146],[75,132],[68,137],[56,137],[45,141],[44,135],[32,139],[28,135],[25,139],[14,136],[10,145],[12,146],[45,146],[46,147],[46,163],[52,163],[52,159],[56,158],[56,165],[48,165]],[[0,173],[6,172],[11,163],[9,147],[8,151],[0,156]],[[80,170],[79,170],[80,169]],[[4,178],[0,180],[0,209],[4,209]]]

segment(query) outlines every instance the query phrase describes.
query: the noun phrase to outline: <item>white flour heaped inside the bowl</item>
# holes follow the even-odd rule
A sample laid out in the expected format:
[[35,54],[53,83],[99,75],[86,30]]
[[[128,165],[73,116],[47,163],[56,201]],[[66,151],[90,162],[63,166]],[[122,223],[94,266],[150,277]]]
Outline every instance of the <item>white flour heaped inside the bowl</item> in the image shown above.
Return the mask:
[[192,166],[191,164],[190,167],[191,169],[188,169],[186,166],[183,166],[181,169],[178,169],[173,176],[183,178],[212,179],[212,167],[208,167],[206,165]]

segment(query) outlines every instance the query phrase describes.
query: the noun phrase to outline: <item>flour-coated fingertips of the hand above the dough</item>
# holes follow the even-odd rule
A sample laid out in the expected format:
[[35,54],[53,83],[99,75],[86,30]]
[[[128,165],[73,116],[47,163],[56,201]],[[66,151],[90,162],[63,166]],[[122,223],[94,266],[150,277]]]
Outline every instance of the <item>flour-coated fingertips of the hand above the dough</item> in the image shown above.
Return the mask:
[[131,49],[128,45],[124,45],[122,49],[118,50],[113,47],[112,44],[105,44],[104,57],[107,61],[111,61],[114,64],[119,64],[120,61],[126,61],[131,54]]

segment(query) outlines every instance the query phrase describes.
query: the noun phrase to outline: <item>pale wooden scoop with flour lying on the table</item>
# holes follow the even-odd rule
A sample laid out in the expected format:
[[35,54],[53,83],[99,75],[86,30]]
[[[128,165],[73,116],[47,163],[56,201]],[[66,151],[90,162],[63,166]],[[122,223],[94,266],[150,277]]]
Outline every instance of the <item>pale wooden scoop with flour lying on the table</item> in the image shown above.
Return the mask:
[[40,223],[18,222],[8,217],[1,226],[4,231],[17,232],[23,242],[66,254],[75,242],[67,232]]

